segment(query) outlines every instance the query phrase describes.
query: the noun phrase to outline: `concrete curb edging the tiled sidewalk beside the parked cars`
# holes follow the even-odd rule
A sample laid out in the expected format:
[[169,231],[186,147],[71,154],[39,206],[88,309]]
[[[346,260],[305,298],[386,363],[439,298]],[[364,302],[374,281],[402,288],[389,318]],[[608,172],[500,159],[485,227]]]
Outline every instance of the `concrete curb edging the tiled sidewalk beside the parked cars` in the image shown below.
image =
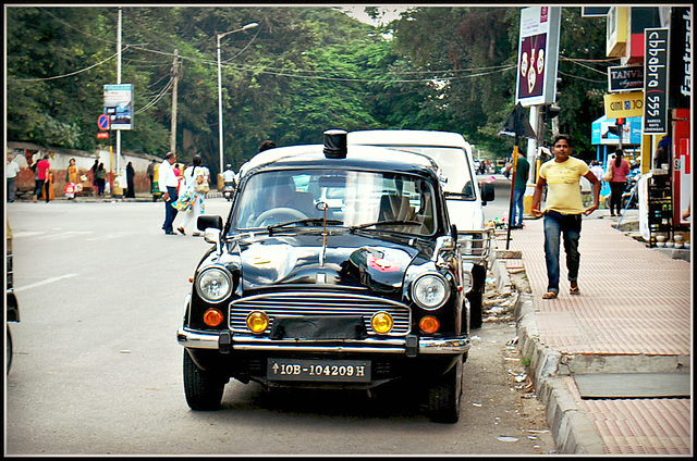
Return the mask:
[[[568,374],[564,357],[539,342],[535,303],[529,294],[519,294],[515,303],[518,348],[530,358],[530,370],[537,396],[545,404],[547,423],[559,453],[606,454],[602,437],[592,421],[576,404],[574,396],[560,375]],[[560,373],[561,372],[561,373]]]

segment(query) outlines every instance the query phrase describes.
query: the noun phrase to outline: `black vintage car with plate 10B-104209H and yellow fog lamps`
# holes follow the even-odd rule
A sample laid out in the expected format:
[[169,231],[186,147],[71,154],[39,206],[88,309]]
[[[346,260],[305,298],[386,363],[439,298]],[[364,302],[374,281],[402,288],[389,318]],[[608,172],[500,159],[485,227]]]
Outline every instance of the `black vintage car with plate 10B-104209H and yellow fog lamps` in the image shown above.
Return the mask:
[[432,421],[456,422],[472,274],[437,172],[418,153],[346,147],[343,130],[241,169],[224,224],[197,223],[213,246],[178,332],[188,406],[218,409],[230,377],[343,389],[402,379],[424,390]]

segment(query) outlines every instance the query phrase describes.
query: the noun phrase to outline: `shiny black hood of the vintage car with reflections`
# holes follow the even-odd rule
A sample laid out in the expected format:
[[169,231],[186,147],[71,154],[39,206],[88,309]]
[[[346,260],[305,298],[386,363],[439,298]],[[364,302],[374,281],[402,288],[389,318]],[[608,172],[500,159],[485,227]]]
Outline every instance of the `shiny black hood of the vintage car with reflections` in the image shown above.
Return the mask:
[[[341,234],[255,236],[237,241],[243,289],[279,285],[341,285],[400,296],[404,273],[425,248],[400,239]],[[428,249],[428,246],[426,250]]]

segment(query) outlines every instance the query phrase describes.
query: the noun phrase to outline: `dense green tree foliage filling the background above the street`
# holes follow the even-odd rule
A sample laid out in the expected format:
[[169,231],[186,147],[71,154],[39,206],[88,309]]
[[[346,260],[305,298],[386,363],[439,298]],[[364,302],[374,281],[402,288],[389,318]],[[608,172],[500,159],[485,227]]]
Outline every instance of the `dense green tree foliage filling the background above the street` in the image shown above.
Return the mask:
[[[8,138],[95,149],[103,85],[118,83],[119,9],[5,11]],[[169,150],[176,67],[176,151],[183,161],[201,154],[218,170],[217,35],[230,33],[220,43],[222,123],[234,167],[265,139],[320,142],[328,128],[453,130],[494,155],[510,151],[497,133],[515,102],[519,8],[411,8],[379,27],[338,8],[121,11],[121,83],[135,89],[125,149]],[[609,63],[604,21],[578,11],[562,13],[559,122],[587,150]],[[258,27],[240,30],[252,22]]]

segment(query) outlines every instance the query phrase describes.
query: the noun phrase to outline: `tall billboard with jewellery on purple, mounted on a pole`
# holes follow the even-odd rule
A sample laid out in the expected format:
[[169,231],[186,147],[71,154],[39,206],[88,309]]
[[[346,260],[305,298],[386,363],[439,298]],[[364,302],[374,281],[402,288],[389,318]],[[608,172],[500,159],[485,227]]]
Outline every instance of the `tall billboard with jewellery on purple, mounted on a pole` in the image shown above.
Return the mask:
[[523,107],[554,102],[561,16],[561,7],[521,10],[515,102]]

